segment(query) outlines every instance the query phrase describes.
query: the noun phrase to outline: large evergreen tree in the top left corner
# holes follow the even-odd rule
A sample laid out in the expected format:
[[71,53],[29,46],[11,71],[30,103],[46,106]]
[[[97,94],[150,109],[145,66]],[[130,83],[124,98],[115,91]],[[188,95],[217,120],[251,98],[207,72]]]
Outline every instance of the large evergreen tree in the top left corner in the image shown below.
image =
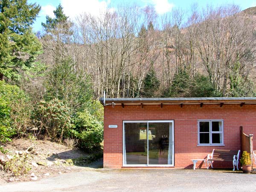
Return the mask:
[[41,52],[31,27],[40,9],[27,0],[0,0],[0,80],[19,79]]

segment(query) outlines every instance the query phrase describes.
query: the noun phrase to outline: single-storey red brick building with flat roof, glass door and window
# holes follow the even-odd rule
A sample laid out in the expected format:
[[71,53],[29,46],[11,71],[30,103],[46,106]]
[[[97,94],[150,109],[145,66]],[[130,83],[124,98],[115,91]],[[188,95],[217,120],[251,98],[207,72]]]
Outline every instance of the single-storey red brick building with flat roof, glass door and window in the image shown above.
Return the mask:
[[238,151],[240,126],[256,134],[255,104],[256,98],[105,99],[104,167],[192,168],[192,159],[206,159],[214,148]]

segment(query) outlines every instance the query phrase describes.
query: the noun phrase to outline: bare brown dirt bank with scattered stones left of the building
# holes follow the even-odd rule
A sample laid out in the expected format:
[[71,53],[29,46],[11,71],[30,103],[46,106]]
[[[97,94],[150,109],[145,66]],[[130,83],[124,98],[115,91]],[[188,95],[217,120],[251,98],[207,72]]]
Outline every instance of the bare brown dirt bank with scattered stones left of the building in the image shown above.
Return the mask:
[[[31,174],[40,180],[64,173],[84,171],[83,166],[72,166],[67,163],[67,160],[80,157],[85,158],[90,155],[79,149],[69,148],[66,145],[49,140],[13,139],[12,142],[4,146],[8,152],[6,154],[1,154],[0,152],[0,158],[6,157],[7,154],[13,156],[15,151],[25,153],[26,149],[31,146],[33,148],[29,153],[28,160],[31,170],[27,174],[14,177],[11,173],[4,172],[0,166],[0,186],[8,182],[31,181],[34,178]],[[37,163],[40,162],[46,165],[38,165]],[[102,167],[102,165],[99,166]]]

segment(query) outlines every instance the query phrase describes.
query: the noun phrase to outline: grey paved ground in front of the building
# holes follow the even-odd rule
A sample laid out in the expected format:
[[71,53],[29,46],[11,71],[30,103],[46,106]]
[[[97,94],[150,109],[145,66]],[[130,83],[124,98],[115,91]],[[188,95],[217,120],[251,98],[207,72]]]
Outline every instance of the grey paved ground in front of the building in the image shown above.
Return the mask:
[[10,183],[0,192],[250,192],[256,173],[206,169],[91,169]]

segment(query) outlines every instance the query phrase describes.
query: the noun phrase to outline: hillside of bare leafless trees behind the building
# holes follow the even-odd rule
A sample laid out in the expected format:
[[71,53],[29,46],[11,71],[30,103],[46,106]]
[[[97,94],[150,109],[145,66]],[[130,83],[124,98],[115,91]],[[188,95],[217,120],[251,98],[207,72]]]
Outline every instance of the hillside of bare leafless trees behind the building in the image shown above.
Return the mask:
[[192,6],[160,16],[149,6],[121,6],[71,22],[59,6],[38,35],[40,58],[47,70],[69,58],[72,73],[90,76],[96,98],[104,90],[108,97],[255,96],[255,10]]

